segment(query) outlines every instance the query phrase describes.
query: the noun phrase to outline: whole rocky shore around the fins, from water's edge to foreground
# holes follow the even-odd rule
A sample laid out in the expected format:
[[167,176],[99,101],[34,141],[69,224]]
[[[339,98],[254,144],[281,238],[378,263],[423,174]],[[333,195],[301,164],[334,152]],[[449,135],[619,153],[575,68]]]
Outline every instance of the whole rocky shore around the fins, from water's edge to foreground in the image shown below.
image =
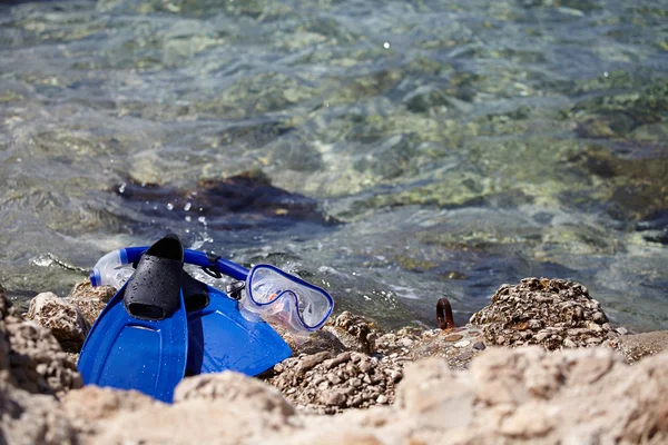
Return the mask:
[[0,287],[0,443],[668,443],[668,333],[612,326],[576,283],[503,285],[444,330],[343,313],[282,333],[293,357],[258,378],[185,378],[173,405],[81,387],[78,349],[112,295],[80,284],[23,317]]

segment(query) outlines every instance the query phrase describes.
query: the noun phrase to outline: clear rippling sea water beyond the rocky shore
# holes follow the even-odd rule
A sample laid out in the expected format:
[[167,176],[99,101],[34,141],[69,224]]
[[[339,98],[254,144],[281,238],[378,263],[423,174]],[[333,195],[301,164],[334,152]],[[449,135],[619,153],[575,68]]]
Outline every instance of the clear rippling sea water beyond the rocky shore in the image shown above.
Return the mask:
[[[53,258],[90,268],[174,230],[387,326],[435,326],[443,294],[463,323],[501,284],[548,276],[584,284],[618,324],[666,328],[667,14],[648,0],[1,2],[0,283],[21,303],[66,295],[85,274]],[[340,224],[118,194],[250,170]]]

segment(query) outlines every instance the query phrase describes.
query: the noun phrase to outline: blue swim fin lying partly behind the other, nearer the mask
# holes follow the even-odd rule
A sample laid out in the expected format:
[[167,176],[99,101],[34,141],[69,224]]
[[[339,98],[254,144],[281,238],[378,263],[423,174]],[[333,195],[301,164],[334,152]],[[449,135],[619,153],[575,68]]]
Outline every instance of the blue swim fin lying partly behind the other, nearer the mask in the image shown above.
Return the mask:
[[256,376],[292,356],[264,320],[248,322],[227,294],[184,274],[188,309],[188,374],[236,370]]

